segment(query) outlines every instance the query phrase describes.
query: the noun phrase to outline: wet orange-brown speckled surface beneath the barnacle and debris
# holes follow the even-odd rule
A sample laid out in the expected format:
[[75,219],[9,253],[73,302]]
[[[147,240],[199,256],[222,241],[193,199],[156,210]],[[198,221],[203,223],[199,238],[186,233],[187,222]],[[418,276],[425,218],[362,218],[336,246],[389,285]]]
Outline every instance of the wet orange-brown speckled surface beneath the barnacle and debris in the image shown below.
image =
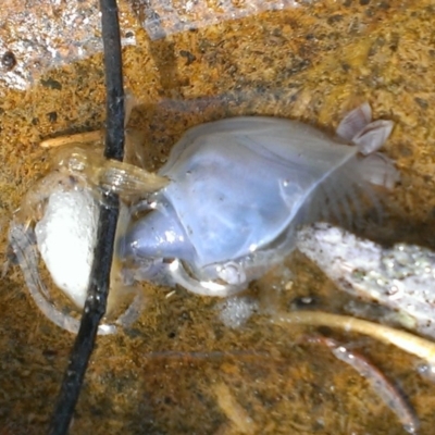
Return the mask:
[[[385,151],[401,173],[390,196],[397,225],[388,220],[371,233],[434,247],[431,2],[299,4],[156,41],[140,28],[134,4],[121,4],[124,33],[133,29],[136,40],[124,49],[125,83],[138,100],[129,124],[145,133],[150,169],[159,167],[170,147],[198,123],[261,114],[333,132],[344,113],[368,100],[374,119],[397,123]],[[61,11],[52,18],[54,27],[59,16]],[[4,78],[4,71],[24,67],[27,58],[1,37]],[[104,122],[99,49],[54,63],[58,70],[50,65],[23,76],[26,89],[1,80],[3,256],[12,212],[46,167],[47,151],[38,142]],[[145,286],[144,291],[147,308],[139,321],[98,339],[71,433],[405,433],[364,378],[303,338],[312,330],[271,324],[276,307],[294,308],[307,297],[328,311],[357,303],[300,253],[277,277],[252,286],[249,295],[258,308],[236,330],[222,322],[219,300],[179,288],[172,294]],[[0,309],[0,434],[46,433],[73,336],[37,311],[16,266],[2,279]],[[415,358],[365,337],[323,333],[352,344],[397,382],[421,420],[419,433],[432,433],[435,385],[418,375]]]

